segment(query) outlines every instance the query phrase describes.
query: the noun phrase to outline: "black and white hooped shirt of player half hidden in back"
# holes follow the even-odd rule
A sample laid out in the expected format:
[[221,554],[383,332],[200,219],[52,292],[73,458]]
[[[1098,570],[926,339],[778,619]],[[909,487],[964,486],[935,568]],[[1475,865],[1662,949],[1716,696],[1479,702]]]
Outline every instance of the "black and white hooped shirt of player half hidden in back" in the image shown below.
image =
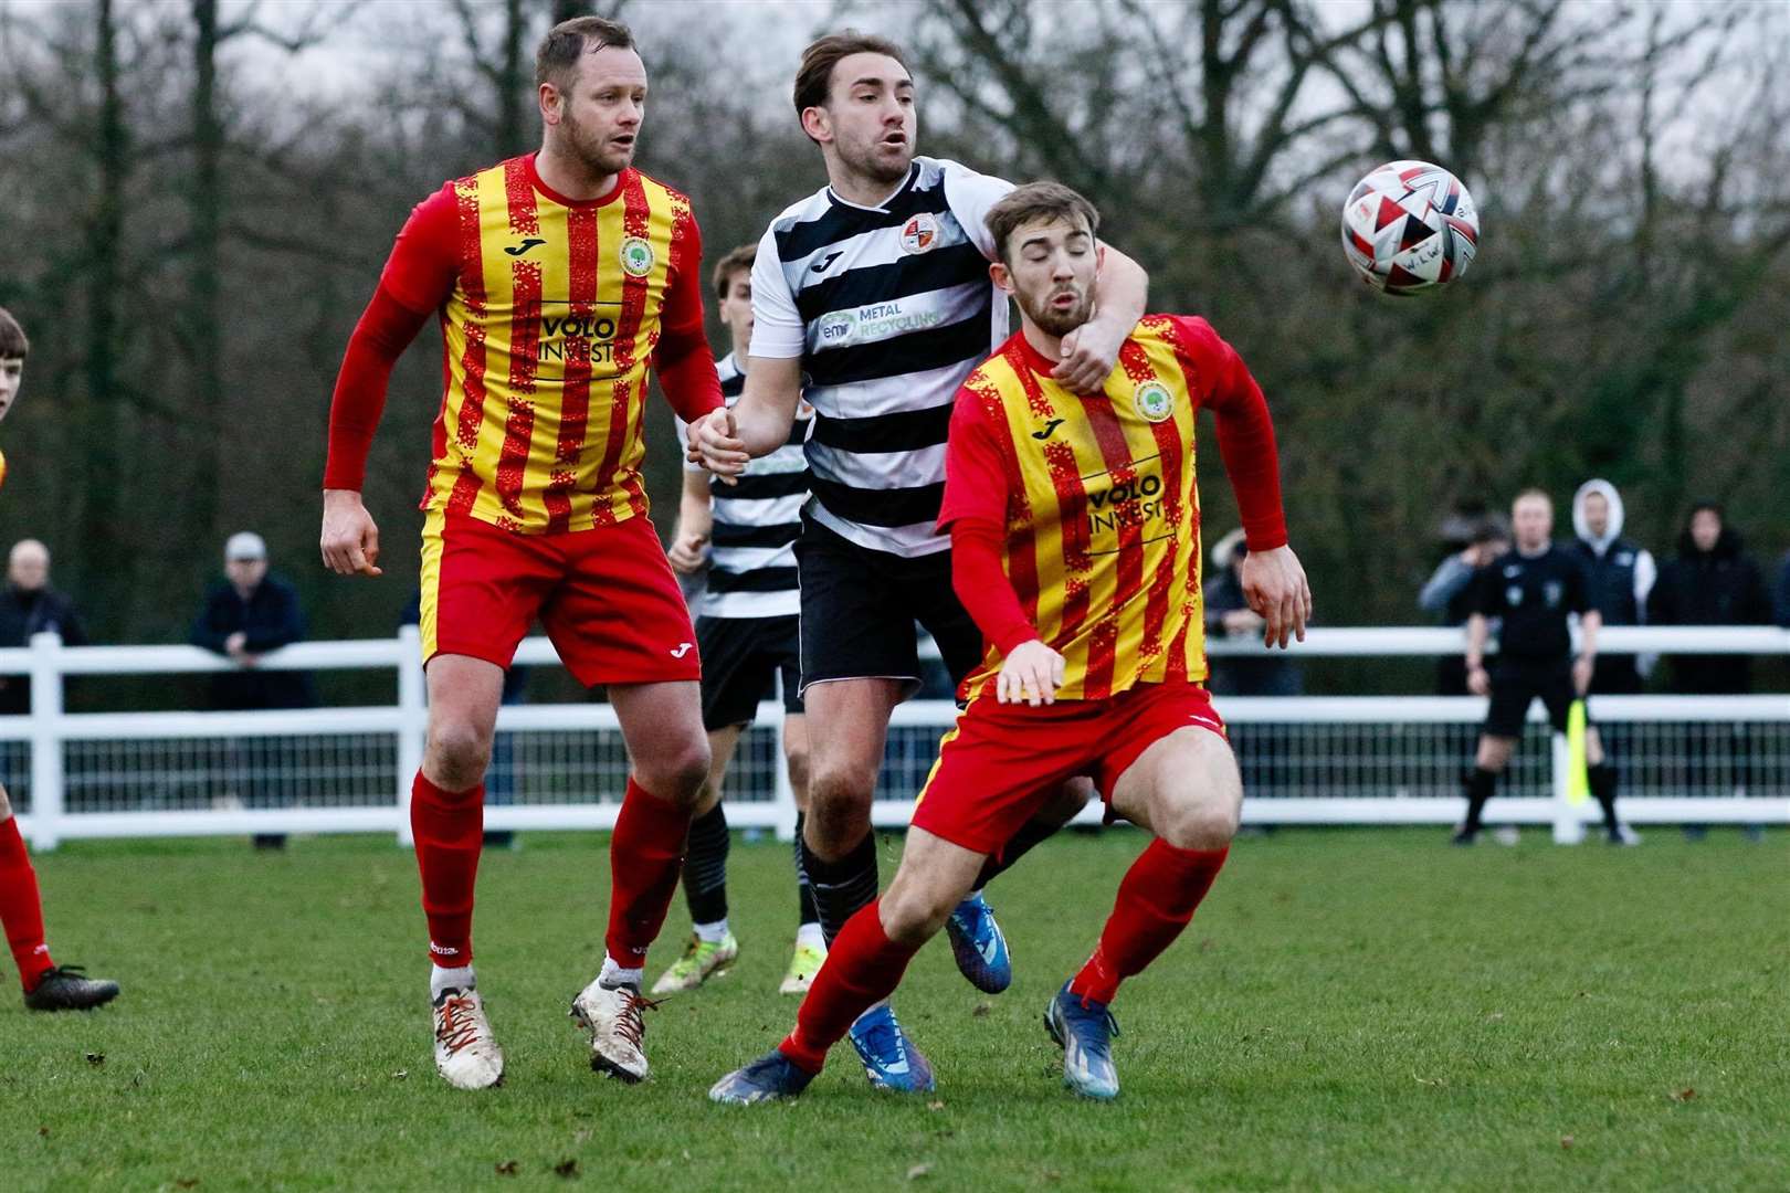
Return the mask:
[[[721,397],[739,401],[746,374],[729,352],[714,363]],[[754,460],[737,485],[709,479],[714,512],[709,549],[709,583],[696,599],[700,617],[795,617],[802,599],[795,581],[795,540],[802,535],[802,503],[807,501],[807,461],[802,442],[814,426],[807,402],[797,411],[789,440],[771,454]],[[689,427],[677,420],[678,445],[689,449]],[[684,465],[702,472],[700,465]]]

